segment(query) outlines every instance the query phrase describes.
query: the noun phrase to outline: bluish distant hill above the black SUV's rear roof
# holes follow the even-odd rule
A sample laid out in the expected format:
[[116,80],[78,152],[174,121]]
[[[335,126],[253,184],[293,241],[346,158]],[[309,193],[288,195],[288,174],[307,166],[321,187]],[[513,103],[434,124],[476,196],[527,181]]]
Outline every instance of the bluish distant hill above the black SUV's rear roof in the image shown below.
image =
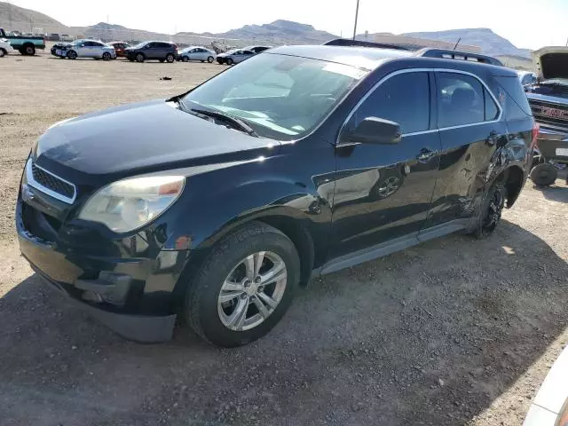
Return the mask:
[[461,37],[460,43],[479,46],[487,55],[508,55],[530,58],[530,51],[528,49],[518,49],[517,46],[509,42],[509,40],[495,34],[489,28],[463,28],[450,29],[447,31],[406,33],[403,36],[428,38],[430,40],[440,40],[450,43],[456,43]]

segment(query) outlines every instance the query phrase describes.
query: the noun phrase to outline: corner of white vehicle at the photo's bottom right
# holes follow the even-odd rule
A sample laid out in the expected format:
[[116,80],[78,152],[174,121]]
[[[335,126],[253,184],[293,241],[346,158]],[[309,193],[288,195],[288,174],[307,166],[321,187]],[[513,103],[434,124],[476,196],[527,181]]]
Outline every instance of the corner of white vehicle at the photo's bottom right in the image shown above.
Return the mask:
[[568,347],[548,371],[526,414],[523,426],[566,426],[568,424]]

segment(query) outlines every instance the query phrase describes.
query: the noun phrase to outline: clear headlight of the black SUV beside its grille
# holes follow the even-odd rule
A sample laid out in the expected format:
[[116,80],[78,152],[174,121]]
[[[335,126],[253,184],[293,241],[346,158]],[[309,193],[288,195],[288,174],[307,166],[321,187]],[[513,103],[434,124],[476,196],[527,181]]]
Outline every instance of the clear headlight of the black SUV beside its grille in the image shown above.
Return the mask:
[[128,233],[160,216],[184,189],[183,176],[134,177],[106,185],[94,193],[79,218]]

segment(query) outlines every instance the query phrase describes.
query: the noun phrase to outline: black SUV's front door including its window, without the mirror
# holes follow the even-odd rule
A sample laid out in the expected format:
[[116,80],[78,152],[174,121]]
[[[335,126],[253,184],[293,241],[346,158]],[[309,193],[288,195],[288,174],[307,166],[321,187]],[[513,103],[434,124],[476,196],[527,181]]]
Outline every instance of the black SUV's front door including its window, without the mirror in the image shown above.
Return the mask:
[[432,111],[434,77],[403,71],[372,90],[343,131],[373,116],[398,122],[394,145],[335,148],[333,237],[329,259],[418,233],[425,224],[438,173],[440,140]]

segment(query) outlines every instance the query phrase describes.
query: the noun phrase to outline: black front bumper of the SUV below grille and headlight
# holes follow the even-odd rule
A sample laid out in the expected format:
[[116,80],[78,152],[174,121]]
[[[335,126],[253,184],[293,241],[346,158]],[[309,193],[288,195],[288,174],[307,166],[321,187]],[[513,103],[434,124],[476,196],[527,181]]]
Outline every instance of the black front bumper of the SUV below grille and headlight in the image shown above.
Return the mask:
[[119,335],[144,343],[171,338],[177,317],[172,296],[185,264],[183,250],[161,250],[155,258],[124,252],[98,256],[89,253],[89,241],[77,248],[38,236],[48,226],[49,218],[20,194],[20,251],[43,280]]

